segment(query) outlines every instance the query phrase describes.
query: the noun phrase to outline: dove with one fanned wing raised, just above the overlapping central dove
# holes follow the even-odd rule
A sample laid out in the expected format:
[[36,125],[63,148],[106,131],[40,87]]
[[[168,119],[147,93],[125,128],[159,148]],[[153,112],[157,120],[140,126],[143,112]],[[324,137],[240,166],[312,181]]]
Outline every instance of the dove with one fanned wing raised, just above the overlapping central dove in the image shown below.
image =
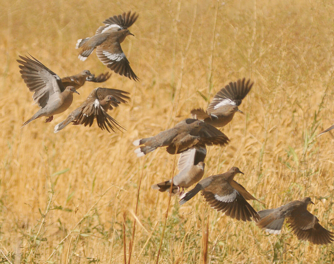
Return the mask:
[[216,93],[206,111],[202,108],[192,109],[191,116],[215,127],[225,126],[236,112],[242,113],[238,106],[252,86],[253,82],[251,80],[245,82],[245,78],[230,82]]

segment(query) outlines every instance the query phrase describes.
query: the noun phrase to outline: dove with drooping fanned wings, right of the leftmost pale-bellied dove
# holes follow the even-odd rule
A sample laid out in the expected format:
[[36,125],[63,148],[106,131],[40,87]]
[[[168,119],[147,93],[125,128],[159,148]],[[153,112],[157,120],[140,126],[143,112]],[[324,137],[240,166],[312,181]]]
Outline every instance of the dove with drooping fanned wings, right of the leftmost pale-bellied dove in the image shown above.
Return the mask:
[[54,127],[53,132],[59,132],[70,122],[74,125],[91,126],[94,119],[101,129],[107,129],[108,132],[110,132],[109,128],[113,131],[115,131],[115,127],[123,128],[107,111],[118,106],[121,102],[126,103],[126,100],[130,99],[126,94],[129,93],[118,89],[95,88],[78,108]]

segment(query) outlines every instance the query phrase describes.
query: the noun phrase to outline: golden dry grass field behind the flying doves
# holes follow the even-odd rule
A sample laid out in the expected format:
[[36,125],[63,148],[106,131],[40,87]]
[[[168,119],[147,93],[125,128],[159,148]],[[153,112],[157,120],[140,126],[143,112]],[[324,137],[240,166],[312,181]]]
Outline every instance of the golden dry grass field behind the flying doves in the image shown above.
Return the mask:
[[[60,77],[108,71],[95,51],[77,59],[77,39],[124,11],[139,18],[122,47],[135,82],[112,74],[86,83],[51,123],[38,118],[18,55]],[[264,204],[309,196],[309,210],[334,231],[334,3],[332,1],[1,0],[0,263],[333,263],[334,243],[299,241],[288,226],[268,235],[236,221],[198,194],[177,197],[151,185],[177,173],[178,155],[160,148],[137,158],[132,142],[206,107],[229,81],[255,84],[209,147],[204,177],[237,166],[236,180]],[[110,114],[125,128],[53,127],[98,86],[131,101]],[[332,130],[334,131],[334,130]]]

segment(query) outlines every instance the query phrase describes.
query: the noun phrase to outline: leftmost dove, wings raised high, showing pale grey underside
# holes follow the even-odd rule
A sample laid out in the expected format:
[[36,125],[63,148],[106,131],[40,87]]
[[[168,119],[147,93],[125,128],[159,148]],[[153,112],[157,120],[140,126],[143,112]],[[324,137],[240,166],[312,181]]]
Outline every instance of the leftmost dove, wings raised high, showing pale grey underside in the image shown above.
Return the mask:
[[21,77],[29,91],[34,93],[32,95],[34,102],[41,108],[25,121],[23,126],[41,116],[48,117],[45,122],[51,122],[53,115],[62,113],[71,105],[73,93],[79,93],[73,86],[64,86],[56,73],[33,56],[29,58],[19,55],[19,57],[22,60],[16,61],[21,64],[19,65]]

